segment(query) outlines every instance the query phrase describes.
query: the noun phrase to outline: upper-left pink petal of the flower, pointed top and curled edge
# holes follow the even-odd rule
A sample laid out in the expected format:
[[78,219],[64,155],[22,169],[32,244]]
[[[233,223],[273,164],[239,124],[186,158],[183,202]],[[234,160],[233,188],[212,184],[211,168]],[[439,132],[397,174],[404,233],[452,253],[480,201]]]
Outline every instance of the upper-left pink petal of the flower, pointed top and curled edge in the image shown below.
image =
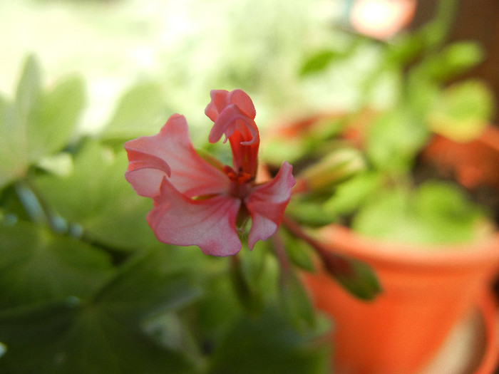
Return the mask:
[[157,135],[125,142],[125,149],[130,161],[125,178],[141,196],[158,194],[165,175],[170,175],[170,183],[187,197],[229,188],[224,172],[197,155],[183,115],[172,115]]

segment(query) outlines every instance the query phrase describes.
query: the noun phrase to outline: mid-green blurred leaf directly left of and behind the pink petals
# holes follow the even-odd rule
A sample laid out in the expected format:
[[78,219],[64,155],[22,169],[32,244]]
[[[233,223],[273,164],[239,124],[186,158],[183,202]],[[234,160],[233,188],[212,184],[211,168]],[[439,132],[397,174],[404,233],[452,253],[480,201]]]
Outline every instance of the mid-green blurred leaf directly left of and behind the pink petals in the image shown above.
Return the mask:
[[127,165],[124,150],[115,155],[88,141],[70,175],[43,175],[35,183],[48,206],[80,225],[87,239],[125,251],[137,249],[158,241],[145,221],[150,199],[138,197],[125,181]]

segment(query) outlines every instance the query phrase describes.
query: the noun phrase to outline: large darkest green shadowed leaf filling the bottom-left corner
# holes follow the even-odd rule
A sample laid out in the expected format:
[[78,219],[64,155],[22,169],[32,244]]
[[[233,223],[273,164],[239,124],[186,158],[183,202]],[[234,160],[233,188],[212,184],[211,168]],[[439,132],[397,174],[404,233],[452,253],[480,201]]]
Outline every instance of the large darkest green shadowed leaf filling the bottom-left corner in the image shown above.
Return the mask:
[[162,326],[153,331],[145,323],[150,316],[178,311],[199,296],[190,276],[172,269],[172,260],[168,251],[140,254],[88,302],[69,299],[0,312],[0,340],[7,346],[0,371],[192,373],[192,355],[181,344],[168,345],[149,335],[158,328],[178,331],[179,326],[171,326],[177,320],[163,318]]

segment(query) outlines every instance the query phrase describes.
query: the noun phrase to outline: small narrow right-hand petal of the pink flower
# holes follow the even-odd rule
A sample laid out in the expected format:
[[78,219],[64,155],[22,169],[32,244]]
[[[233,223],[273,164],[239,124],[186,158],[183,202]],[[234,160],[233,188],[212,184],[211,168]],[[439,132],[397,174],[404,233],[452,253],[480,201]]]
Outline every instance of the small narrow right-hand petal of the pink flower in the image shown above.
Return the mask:
[[252,219],[248,236],[250,249],[257,241],[271,237],[279,228],[295,183],[292,171],[293,167],[283,162],[274,179],[255,187],[245,200]]

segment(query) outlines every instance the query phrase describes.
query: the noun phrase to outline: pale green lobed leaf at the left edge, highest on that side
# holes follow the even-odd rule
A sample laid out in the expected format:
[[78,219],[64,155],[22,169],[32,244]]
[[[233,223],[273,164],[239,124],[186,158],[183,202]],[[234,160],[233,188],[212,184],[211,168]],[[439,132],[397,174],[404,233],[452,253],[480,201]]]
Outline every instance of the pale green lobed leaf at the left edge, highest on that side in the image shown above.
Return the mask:
[[42,92],[38,64],[28,58],[16,102],[0,100],[0,187],[24,176],[31,164],[63,149],[84,103],[83,82],[68,78]]

